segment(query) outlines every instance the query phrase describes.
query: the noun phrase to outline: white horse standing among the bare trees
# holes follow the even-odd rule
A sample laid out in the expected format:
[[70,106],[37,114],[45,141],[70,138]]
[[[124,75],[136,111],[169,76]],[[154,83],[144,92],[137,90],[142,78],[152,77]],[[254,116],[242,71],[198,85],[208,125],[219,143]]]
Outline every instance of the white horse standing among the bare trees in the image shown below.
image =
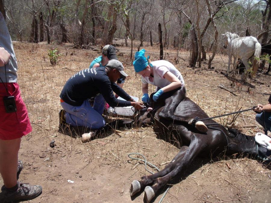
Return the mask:
[[253,57],[252,75],[254,75],[258,70],[260,63],[260,61],[255,59],[255,57],[259,58],[261,55],[261,44],[258,42],[258,40],[252,36],[239,37],[237,34],[230,32],[226,32],[225,34],[222,34],[222,36],[224,36],[224,48],[226,49],[228,47],[229,62],[227,74],[229,75],[233,56],[233,74],[235,74],[236,59],[239,58],[246,66],[245,72],[243,72],[241,75],[241,80],[244,80],[248,74],[249,69],[248,59]]

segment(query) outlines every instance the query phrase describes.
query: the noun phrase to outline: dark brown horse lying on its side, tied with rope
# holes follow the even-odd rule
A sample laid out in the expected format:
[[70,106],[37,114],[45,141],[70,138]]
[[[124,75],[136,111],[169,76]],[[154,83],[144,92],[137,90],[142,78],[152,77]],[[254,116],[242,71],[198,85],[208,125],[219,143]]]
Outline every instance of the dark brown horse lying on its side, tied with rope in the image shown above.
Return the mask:
[[[182,147],[163,170],[144,176],[140,181],[134,180],[130,188],[131,196],[145,189],[144,201],[150,202],[170,180],[183,173],[197,156],[210,157],[211,153],[213,156],[221,153],[226,155],[238,153],[257,158],[270,155],[270,151],[266,148],[255,144],[254,137],[236,131],[226,131],[213,120],[206,120],[204,123],[207,125],[214,123],[212,127],[220,130],[208,129],[207,133],[197,131],[188,123],[196,116],[208,118],[208,115],[192,100],[185,97],[185,88],[172,92],[171,95],[166,100],[163,98],[157,100],[156,107],[154,106],[152,111],[153,122],[161,132],[173,133],[178,137]],[[148,119],[145,115],[141,116],[143,123]],[[268,161],[271,161],[270,157],[267,158]]]

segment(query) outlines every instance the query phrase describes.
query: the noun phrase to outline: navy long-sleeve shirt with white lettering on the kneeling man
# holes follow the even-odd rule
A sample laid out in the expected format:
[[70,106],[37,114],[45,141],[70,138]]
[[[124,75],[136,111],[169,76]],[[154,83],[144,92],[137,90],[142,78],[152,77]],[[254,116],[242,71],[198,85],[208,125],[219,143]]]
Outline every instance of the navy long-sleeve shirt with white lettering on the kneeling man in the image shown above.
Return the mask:
[[125,100],[131,99],[123,89],[109,80],[104,67],[88,68],[77,72],[66,82],[60,98],[72,106],[81,106],[84,100],[102,94],[109,106],[131,106],[130,101],[116,99],[113,91]]

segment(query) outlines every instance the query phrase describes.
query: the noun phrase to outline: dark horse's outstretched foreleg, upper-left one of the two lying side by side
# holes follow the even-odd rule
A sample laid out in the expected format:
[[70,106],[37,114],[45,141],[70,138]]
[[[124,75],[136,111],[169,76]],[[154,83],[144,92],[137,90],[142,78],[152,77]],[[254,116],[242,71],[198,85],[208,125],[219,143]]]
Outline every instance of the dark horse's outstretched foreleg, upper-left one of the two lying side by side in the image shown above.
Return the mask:
[[168,173],[170,173],[175,168],[176,162],[183,158],[187,149],[188,149],[188,146],[182,146],[179,153],[173,158],[173,160],[163,170],[155,174],[143,176],[140,181],[134,180],[130,187],[130,195],[131,196],[135,195],[141,189],[145,188],[145,186],[152,184],[153,180],[155,180],[156,178],[163,177],[167,175]]

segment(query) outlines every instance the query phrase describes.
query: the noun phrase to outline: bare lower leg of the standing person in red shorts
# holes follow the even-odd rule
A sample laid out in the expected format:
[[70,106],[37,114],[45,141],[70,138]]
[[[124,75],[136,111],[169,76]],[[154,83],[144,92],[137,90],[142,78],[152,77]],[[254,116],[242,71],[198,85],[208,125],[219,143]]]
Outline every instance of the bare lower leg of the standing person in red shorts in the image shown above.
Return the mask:
[[21,138],[0,140],[0,173],[6,188],[17,184],[17,162]]

